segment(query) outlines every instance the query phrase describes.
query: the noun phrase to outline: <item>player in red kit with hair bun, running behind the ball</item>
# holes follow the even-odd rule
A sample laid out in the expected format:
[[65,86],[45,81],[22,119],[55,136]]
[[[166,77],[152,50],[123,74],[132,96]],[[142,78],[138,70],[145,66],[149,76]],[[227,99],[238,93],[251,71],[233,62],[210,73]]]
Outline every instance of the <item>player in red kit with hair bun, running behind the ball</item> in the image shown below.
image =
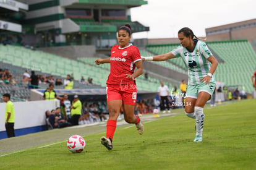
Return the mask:
[[[143,134],[143,124],[134,114],[137,99],[135,78],[143,74],[142,59],[139,49],[129,44],[131,38],[129,24],[118,29],[117,41],[111,49],[111,56],[107,59],[96,59],[95,64],[110,63],[110,74],[107,84],[107,103],[109,119],[106,124],[106,137],[101,137],[101,144],[108,150],[113,149],[112,141],[116,130],[116,120],[120,109],[124,109],[124,119],[129,124],[135,124],[139,134]],[[134,72],[135,67],[137,70]]]

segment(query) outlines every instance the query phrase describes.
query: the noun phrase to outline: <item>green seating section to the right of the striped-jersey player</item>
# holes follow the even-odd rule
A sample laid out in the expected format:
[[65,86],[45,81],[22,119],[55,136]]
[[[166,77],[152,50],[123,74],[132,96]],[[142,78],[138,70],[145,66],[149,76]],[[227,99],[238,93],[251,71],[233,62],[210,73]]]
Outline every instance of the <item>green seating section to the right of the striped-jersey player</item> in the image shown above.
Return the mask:
[[230,86],[240,85],[252,93],[250,77],[256,66],[256,54],[249,41],[215,41],[207,45],[224,61],[215,72],[216,80]]

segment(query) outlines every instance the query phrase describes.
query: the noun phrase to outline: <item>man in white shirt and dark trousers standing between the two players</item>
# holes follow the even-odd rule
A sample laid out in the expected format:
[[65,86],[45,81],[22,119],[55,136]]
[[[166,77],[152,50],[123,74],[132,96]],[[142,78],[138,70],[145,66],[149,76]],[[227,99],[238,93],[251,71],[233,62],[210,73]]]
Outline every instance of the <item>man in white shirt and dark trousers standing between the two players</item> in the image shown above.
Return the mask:
[[166,113],[166,109],[168,109],[168,113],[171,113],[169,108],[169,88],[167,85],[164,85],[164,82],[161,81],[160,87],[158,87],[158,96],[160,99],[160,107],[163,110],[163,113]]

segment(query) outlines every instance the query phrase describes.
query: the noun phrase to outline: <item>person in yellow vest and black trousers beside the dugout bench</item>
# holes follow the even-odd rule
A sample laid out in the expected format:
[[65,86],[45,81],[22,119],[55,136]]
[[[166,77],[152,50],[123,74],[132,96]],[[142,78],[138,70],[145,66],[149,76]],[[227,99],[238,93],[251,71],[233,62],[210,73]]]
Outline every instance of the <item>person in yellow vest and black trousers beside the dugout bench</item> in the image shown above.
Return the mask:
[[74,100],[72,101],[71,109],[71,118],[69,119],[69,122],[72,125],[78,125],[79,124],[79,117],[81,116],[82,111],[82,103],[79,100],[79,97],[77,95],[74,96]]

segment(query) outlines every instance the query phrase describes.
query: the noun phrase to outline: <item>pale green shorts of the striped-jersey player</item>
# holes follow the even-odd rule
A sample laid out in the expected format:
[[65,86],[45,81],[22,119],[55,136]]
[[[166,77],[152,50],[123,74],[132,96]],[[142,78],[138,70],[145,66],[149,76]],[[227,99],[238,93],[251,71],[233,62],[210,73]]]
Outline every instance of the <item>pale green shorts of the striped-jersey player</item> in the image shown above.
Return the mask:
[[186,98],[197,98],[198,93],[205,91],[209,93],[210,95],[213,94],[213,91],[215,90],[216,83],[210,82],[210,84],[205,85],[205,83],[200,83],[198,85],[187,85],[187,94]]

